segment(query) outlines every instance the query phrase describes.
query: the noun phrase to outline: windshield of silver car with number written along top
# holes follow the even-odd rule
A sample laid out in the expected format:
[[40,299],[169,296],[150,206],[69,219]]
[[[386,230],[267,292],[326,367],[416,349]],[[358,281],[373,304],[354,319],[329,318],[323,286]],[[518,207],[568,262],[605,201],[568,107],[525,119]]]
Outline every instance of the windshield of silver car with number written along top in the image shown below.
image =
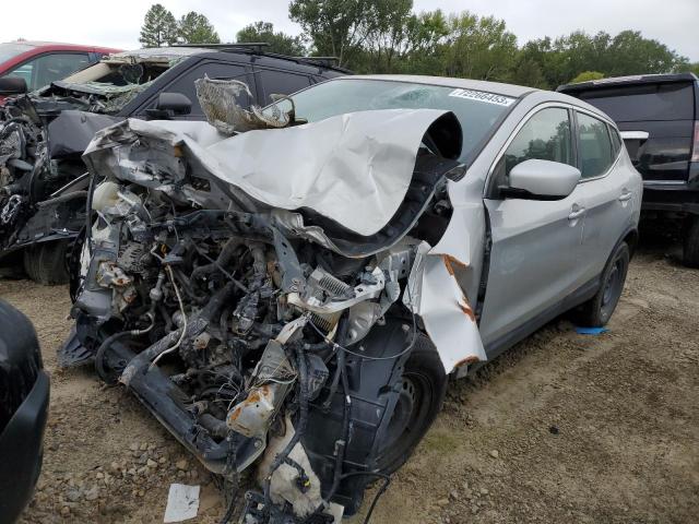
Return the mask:
[[366,79],[324,82],[292,98],[296,118],[309,122],[372,109],[453,111],[463,129],[462,162],[514,102],[514,98],[481,91]]

